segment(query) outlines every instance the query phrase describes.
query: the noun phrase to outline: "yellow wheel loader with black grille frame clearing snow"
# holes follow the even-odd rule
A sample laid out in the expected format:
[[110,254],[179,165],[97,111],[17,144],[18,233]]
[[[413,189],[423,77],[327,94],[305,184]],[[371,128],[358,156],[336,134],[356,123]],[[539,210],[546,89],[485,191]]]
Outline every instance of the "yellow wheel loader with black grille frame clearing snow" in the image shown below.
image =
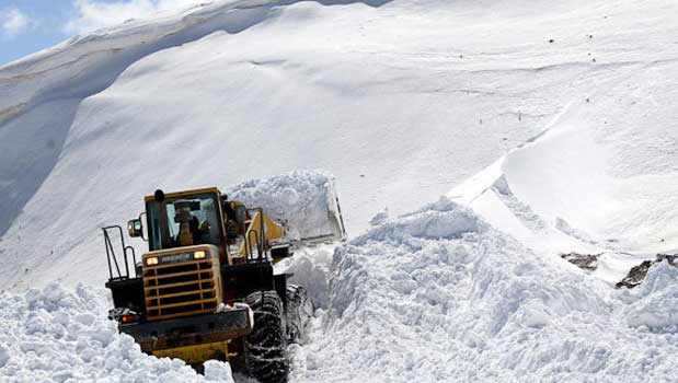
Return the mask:
[[[209,359],[228,360],[262,383],[286,382],[286,346],[299,338],[303,325],[296,322],[308,321],[312,307],[303,288],[288,285],[289,275],[274,272],[292,254],[285,228],[218,188],[157,190],[145,202],[146,212],[127,223],[129,236],[148,241],[140,262],[120,227],[103,228],[110,317],[119,330],[145,352],[198,370]],[[335,210],[329,240],[345,236],[338,200]]]

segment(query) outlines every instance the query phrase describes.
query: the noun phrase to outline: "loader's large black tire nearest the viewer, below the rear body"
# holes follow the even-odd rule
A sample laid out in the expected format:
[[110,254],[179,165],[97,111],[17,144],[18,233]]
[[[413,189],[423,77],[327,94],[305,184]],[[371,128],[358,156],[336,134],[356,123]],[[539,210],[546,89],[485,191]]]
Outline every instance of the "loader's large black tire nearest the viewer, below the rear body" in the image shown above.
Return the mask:
[[285,312],[275,291],[258,291],[245,302],[254,312],[254,327],[245,338],[245,363],[261,383],[286,383],[289,373]]

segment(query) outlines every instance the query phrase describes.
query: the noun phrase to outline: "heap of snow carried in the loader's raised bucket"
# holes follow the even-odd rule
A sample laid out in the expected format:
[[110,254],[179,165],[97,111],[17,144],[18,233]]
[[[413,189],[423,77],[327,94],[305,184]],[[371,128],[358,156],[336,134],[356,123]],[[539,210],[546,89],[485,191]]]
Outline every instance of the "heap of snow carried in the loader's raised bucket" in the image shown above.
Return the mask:
[[334,178],[321,172],[296,171],[251,179],[229,188],[229,198],[261,207],[281,222],[290,239],[342,236]]

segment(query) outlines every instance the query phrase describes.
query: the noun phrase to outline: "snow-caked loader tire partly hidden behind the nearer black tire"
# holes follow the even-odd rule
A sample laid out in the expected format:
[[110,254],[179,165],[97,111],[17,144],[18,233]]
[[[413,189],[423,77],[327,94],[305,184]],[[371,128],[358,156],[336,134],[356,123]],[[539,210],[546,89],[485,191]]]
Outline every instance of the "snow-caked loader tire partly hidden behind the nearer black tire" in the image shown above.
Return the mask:
[[313,303],[306,289],[287,285],[287,341],[303,345],[313,316]]

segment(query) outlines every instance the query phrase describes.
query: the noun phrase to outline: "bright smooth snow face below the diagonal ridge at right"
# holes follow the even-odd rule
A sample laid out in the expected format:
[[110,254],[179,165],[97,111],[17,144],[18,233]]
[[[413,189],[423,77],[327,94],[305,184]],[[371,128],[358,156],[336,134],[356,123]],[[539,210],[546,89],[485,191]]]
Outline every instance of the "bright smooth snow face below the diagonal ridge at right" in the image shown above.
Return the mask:
[[637,62],[598,84],[544,132],[449,196],[550,254],[600,254],[604,279],[678,248],[678,96],[674,60]]

